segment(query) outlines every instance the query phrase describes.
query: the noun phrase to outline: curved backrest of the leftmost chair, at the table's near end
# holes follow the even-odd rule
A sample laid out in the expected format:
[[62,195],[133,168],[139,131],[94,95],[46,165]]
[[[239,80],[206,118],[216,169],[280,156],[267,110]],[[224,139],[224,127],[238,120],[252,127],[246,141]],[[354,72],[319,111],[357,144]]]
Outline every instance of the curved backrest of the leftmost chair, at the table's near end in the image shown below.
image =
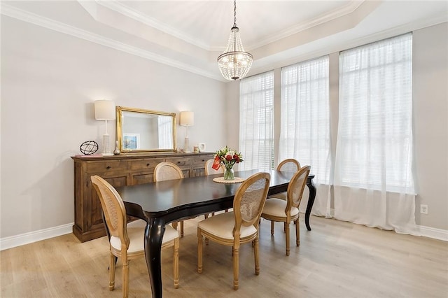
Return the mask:
[[99,176],[91,176],[92,185],[97,191],[99,201],[106,218],[106,225],[111,236],[120,238],[122,251],[129,247],[126,229],[126,209],[123,199],[111,184]]

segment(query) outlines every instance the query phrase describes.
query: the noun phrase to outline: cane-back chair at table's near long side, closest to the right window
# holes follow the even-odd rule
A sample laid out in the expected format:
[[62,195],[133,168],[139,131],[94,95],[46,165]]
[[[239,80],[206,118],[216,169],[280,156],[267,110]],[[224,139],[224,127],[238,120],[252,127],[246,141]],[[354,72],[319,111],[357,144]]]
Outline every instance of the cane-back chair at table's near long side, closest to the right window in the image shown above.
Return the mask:
[[289,255],[289,225],[295,223],[295,243],[300,246],[299,204],[311,166],[303,166],[291,178],[286,191],[286,201],[271,197],[266,201],[261,217],[271,221],[271,235],[274,235],[274,222],[284,222],[286,234],[286,255]]

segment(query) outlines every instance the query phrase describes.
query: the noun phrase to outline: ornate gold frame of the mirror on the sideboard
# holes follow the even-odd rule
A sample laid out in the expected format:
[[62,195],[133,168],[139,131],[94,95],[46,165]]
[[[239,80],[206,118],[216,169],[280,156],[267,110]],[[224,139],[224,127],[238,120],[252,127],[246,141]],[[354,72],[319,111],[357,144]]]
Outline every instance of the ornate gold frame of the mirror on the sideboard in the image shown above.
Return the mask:
[[[123,149],[123,112],[134,112],[134,113],[146,113],[151,115],[163,115],[172,117],[173,125],[173,148],[167,149]],[[132,152],[177,152],[176,146],[176,113],[167,113],[160,111],[144,110],[143,108],[126,108],[124,106],[116,106],[116,118],[117,118],[117,140],[118,146],[121,153],[132,153]]]

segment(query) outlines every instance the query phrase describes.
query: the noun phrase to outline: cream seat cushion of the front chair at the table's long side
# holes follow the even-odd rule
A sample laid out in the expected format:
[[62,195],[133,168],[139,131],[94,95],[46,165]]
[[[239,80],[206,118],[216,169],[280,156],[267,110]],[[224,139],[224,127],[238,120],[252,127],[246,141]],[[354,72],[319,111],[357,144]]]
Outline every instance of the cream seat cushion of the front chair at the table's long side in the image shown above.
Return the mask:
[[[198,222],[197,227],[212,235],[223,239],[233,239],[233,227],[235,227],[235,215],[233,212],[220,213]],[[251,236],[257,233],[253,225],[249,227],[241,226],[240,238]]]

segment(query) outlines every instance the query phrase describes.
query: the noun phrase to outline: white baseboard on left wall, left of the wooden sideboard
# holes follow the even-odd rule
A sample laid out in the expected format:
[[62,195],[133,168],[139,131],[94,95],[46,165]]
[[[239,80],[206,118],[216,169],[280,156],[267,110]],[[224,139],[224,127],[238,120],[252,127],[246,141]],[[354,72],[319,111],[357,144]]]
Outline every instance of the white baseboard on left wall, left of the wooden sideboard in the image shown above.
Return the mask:
[[20,235],[1,238],[0,250],[15,248],[16,246],[23,246],[28,243],[33,243],[65,234],[70,234],[71,227],[73,227],[73,222],[66,225],[59,225],[58,227],[50,227],[48,229],[40,229],[34,232],[28,232]]

